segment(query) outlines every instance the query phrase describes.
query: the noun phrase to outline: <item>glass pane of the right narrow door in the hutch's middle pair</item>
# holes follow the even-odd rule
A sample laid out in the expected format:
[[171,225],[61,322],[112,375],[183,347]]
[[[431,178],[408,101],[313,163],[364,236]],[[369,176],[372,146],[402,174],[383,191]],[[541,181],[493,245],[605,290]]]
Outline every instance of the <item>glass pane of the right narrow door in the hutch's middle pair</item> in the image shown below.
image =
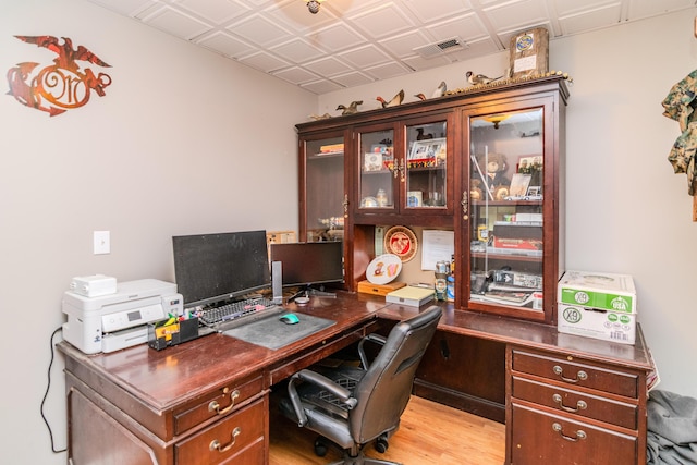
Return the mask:
[[406,162],[401,173],[404,207],[445,208],[448,195],[448,123],[406,126]]

